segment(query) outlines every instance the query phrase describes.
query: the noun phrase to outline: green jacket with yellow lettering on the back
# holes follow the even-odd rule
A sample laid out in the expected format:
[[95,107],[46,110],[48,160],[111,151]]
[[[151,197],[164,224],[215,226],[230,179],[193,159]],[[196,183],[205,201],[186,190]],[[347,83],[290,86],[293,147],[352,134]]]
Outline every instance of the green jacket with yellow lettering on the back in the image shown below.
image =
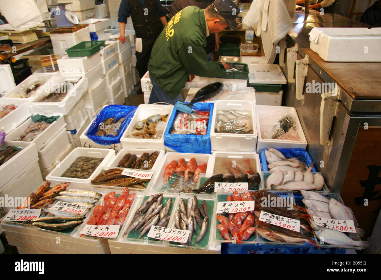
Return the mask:
[[149,74],[170,98],[185,86],[189,74],[222,78],[226,73],[219,62],[208,61],[204,10],[189,6],[168,22],[152,48]]

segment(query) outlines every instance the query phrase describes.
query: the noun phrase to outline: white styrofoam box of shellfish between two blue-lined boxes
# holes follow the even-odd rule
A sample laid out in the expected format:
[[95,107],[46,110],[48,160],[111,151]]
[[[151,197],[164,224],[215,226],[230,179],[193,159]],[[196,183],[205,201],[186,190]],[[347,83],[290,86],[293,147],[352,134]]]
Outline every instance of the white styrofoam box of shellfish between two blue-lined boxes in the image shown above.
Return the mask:
[[[140,104],[138,106],[138,109],[136,109],[136,112],[134,114],[134,117],[131,120],[130,125],[128,125],[125,133],[120,138],[120,144],[122,145],[123,149],[165,149],[164,146],[164,132],[166,130],[166,127],[168,125],[168,120],[170,115],[172,114],[174,106],[173,105],[159,105],[159,104]],[[165,127],[163,129],[163,134],[160,137],[160,139],[143,139],[143,138],[127,138],[128,135],[131,134],[131,132],[134,130],[134,126],[136,123],[138,123],[141,120],[144,120],[152,115],[166,115],[167,122],[165,124]]]

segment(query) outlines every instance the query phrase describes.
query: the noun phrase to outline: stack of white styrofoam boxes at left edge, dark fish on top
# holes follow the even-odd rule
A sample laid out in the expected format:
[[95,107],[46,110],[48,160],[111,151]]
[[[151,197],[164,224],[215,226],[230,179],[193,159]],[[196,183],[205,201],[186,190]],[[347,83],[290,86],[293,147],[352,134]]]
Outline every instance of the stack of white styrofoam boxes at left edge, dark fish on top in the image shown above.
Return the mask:
[[[42,183],[36,144],[5,141],[3,146],[14,146],[22,150],[0,166],[0,197],[27,197],[36,185]],[[5,201],[8,200],[5,198]],[[11,205],[8,206],[10,207],[0,208],[0,217],[11,209]]]

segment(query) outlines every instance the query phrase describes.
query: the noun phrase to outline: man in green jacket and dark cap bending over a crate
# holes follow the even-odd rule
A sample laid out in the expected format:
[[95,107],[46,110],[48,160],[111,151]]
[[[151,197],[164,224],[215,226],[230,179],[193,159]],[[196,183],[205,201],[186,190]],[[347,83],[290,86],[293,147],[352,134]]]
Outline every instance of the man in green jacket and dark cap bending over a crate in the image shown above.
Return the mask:
[[179,11],[157,38],[148,62],[152,81],[149,104],[183,101],[180,94],[190,74],[222,78],[226,63],[208,61],[204,48],[210,33],[231,26],[239,8],[231,0],[216,0],[205,10],[189,6]]

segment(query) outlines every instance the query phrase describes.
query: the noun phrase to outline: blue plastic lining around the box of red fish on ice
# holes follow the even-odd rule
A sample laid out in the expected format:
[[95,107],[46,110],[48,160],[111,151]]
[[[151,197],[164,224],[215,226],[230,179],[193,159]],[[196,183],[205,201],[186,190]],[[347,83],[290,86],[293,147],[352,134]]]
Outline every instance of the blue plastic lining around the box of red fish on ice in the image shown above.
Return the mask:
[[181,153],[198,153],[198,154],[210,154],[210,130],[211,130],[211,116],[213,115],[212,103],[195,103],[193,104],[194,110],[210,111],[210,117],[208,121],[208,131],[205,135],[196,134],[170,134],[170,130],[173,126],[174,119],[178,114],[178,110],[173,109],[172,115],[168,121],[164,133],[165,146]]

